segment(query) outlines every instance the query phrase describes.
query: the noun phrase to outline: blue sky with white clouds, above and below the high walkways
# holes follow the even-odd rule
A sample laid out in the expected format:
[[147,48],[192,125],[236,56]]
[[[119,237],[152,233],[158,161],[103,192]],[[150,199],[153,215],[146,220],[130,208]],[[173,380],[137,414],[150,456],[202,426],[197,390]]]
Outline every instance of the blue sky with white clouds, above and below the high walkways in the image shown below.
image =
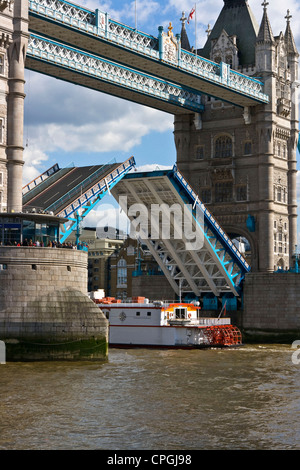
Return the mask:
[[[174,33],[181,30],[182,11],[186,15],[192,0],[79,0],[89,9],[108,12],[110,17],[145,33],[157,36],[158,26]],[[262,0],[248,0],[257,22],[263,13]],[[223,0],[196,2],[197,25],[187,25],[190,44],[201,48],[208,24],[212,27]],[[285,30],[289,8],[291,25],[300,51],[300,2],[270,0],[268,15],[274,35]],[[135,15],[137,12],[137,15]],[[141,105],[71,85],[32,71],[25,74],[24,184],[54,163],[61,167],[101,164],[115,158],[124,161],[133,155],[138,166],[172,166],[176,161],[173,116]],[[94,218],[93,218],[94,217]],[[93,224],[96,214],[88,222]]]

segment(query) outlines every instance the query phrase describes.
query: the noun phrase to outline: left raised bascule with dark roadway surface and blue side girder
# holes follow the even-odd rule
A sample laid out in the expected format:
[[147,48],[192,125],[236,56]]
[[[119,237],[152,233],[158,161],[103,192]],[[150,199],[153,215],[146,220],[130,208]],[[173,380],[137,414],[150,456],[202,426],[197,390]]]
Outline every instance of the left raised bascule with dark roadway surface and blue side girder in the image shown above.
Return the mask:
[[71,167],[58,170],[53,177],[34,185],[23,196],[23,212],[53,212],[67,218],[61,227],[64,242],[84,217],[135,166],[133,157],[124,163]]

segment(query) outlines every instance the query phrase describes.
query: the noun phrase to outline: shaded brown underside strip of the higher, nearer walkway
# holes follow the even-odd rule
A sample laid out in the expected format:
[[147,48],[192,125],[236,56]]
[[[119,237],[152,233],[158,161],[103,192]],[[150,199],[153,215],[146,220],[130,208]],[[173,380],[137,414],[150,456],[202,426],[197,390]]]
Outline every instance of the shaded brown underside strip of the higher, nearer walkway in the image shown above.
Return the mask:
[[[71,47],[76,47],[79,50],[105,57],[144,73],[160,77],[177,85],[197,90],[199,93],[213,96],[236,106],[248,107],[261,103],[254,96],[248,96],[243,92],[228,88],[222,85],[222,83],[213,83],[209,78],[199,77],[193,73],[180,70],[168,62],[147,57],[104,38],[94,37],[92,34],[76,30],[69,25],[58,23],[55,20],[44,18],[31,11],[29,11],[29,31],[49,37]],[[31,68],[31,63],[28,63],[28,67]],[[34,70],[40,71],[38,68]]]

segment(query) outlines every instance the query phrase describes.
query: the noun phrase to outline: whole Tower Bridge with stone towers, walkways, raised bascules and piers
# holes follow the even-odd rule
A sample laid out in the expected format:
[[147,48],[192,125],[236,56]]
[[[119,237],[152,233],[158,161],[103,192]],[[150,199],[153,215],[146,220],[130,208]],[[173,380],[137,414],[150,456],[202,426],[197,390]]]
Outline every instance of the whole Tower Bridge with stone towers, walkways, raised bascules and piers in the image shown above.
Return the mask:
[[[230,295],[236,305],[241,296],[244,338],[277,341],[280,333],[294,340],[300,278],[289,268],[297,244],[299,53],[290,12],[274,35],[268,2],[259,23],[249,3],[223,0],[206,43],[194,53],[184,15],[180,34],[170,24],[154,37],[63,0],[0,0],[0,241],[36,230],[55,240],[62,222],[67,237],[80,213],[110,188],[119,202],[126,200],[124,210],[135,222],[132,206],[149,213],[153,204],[166,210],[176,203],[188,210],[201,246],[191,246],[184,230],[174,240],[159,231],[141,237],[173,290],[223,300]],[[26,67],[174,114],[173,170],[130,172],[130,159],[105,168],[55,167],[22,195]],[[67,180],[74,184],[70,191],[63,187]],[[55,213],[32,214],[30,202]],[[179,230],[178,219],[170,220]],[[229,234],[247,238],[249,264]],[[28,335],[48,347],[73,345],[75,335],[83,355],[86,348],[92,356],[100,344],[106,348],[106,320],[88,305],[86,262],[86,253],[75,250],[0,247],[0,336],[14,340],[17,354]]]

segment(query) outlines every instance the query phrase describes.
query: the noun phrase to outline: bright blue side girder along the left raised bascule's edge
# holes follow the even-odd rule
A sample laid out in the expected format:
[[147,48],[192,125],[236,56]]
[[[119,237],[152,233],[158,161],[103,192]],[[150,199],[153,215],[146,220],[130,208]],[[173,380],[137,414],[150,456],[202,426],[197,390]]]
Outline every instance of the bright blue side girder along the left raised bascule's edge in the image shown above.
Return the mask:
[[[129,158],[126,162],[120,164],[115,168],[111,173],[107,174],[105,177],[101,178],[101,175],[98,175],[98,181],[92,187],[87,190],[82,191],[82,194],[79,197],[75,195],[78,194],[78,189],[76,187],[70,193],[67,193],[64,198],[56,201],[55,204],[49,206],[46,210],[55,211],[55,208],[60,207],[57,215],[61,217],[68,218],[68,222],[63,224],[60,231],[60,241],[64,242],[73,231],[76,231],[78,224],[94,209],[101,199],[110,193],[110,190],[122,179],[124,176],[132,170],[135,166],[134,157]],[[102,174],[103,175],[103,174]],[[62,208],[63,206],[63,208]]]

